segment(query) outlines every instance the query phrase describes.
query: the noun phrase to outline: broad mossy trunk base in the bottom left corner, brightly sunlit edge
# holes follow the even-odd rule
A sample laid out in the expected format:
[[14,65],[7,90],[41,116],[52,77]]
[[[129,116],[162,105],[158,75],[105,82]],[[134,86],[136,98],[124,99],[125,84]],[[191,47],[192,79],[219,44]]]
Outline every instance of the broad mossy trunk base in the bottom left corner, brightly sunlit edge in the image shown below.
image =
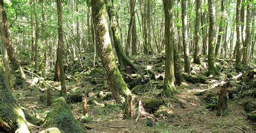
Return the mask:
[[2,63],[0,62],[0,129],[6,132],[29,132],[25,115],[6,86]]

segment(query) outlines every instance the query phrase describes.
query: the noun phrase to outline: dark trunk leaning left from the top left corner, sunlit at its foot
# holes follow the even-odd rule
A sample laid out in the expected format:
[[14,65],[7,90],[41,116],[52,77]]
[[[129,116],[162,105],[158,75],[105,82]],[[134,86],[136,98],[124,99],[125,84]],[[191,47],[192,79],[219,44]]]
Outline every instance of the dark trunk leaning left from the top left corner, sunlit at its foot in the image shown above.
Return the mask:
[[[4,32],[5,32],[5,43],[7,45],[8,50],[8,56],[11,61],[12,68],[14,70],[19,70],[21,79],[25,80],[26,76],[22,70],[21,64],[19,63],[18,59],[16,58],[16,52],[14,47],[12,46],[12,40],[11,40],[11,31],[9,29],[9,24],[6,16],[6,12],[4,9],[4,2],[3,0],[0,0],[0,5],[2,6],[2,14],[3,14],[3,23],[4,23]],[[0,12],[0,13],[1,13]]]

